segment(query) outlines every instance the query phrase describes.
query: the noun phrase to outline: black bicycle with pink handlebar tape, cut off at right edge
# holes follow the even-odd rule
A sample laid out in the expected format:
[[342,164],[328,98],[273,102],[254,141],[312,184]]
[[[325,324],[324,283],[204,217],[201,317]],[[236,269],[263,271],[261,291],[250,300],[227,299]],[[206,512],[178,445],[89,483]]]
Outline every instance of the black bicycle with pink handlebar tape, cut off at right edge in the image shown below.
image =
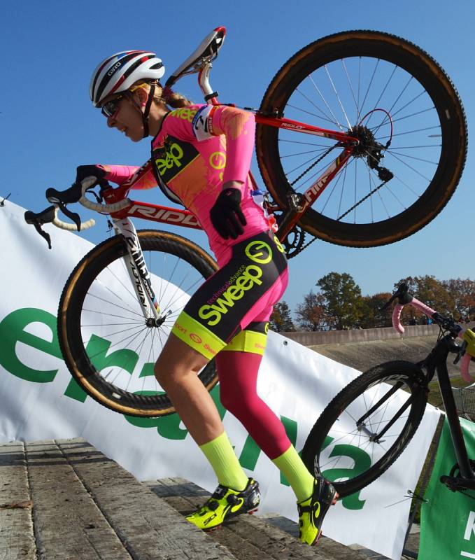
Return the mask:
[[[371,367],[343,388],[309,433],[302,451],[304,463],[311,472],[320,472],[332,480],[340,496],[373,482],[390,468],[416,433],[425,411],[429,383],[437,374],[458,461],[450,475],[441,477],[441,482],[453,491],[475,489],[475,461],[467,455],[446,364],[448,354],[455,353],[462,377],[472,382],[468,367],[470,360],[475,360],[475,332],[416,300],[404,283],[383,309],[395,299],[395,329],[404,332],[399,317],[404,305],[412,305],[439,325],[434,348],[418,363],[395,360]],[[345,457],[334,453],[344,444],[357,447],[371,461],[360,470],[351,468]]]

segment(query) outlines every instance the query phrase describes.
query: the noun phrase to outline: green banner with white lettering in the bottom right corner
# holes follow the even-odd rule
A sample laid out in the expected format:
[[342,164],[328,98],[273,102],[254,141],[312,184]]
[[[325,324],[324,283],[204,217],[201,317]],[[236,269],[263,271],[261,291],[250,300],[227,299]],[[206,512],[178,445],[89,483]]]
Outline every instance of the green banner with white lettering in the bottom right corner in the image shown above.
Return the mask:
[[[460,418],[468,456],[475,458],[475,423]],[[434,470],[420,517],[419,560],[475,558],[475,492],[453,492],[440,482],[457,463],[448,421],[441,433]]]

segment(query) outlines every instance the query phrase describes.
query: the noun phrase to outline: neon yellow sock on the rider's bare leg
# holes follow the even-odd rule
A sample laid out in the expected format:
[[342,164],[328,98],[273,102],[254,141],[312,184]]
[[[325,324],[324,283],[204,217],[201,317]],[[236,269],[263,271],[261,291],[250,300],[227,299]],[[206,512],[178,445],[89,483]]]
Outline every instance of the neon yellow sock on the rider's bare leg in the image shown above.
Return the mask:
[[248,477],[239,464],[226,432],[211,442],[200,445],[199,449],[211,463],[219,484],[238,491],[246,488]]

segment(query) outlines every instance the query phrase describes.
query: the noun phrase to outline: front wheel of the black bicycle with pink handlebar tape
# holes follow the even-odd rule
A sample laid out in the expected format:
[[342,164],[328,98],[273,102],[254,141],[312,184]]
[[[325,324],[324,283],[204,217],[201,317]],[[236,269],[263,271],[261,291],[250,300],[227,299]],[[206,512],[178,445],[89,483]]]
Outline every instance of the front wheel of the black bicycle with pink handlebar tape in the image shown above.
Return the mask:
[[[377,422],[376,432],[379,433],[381,424],[392,419],[395,411],[390,410],[388,401],[382,403],[381,407],[369,416],[369,420],[367,420],[369,428],[367,429],[365,426],[358,430],[356,421],[362,418],[361,409],[369,409],[374,406],[378,385],[385,383],[394,386],[398,381],[411,393],[411,396],[408,396],[412,399],[408,407],[409,412],[407,416],[404,415],[404,412],[399,421],[391,426],[388,433],[383,435],[384,440],[371,442],[369,433],[371,433],[371,428],[374,429],[374,423]],[[371,388],[373,388],[372,394],[366,393]],[[381,386],[381,390],[386,391],[386,389],[386,386]],[[424,414],[427,392],[427,382],[423,372],[420,367],[411,362],[393,361],[372,367],[343,388],[316,421],[302,451],[302,459],[306,467],[310,472],[320,473],[331,480],[342,497],[364,488],[380,477],[411,441]],[[394,405],[397,403],[400,405],[407,400],[399,391],[397,395],[388,397],[388,399],[395,400]],[[379,398],[381,398],[381,393],[378,394]],[[360,409],[356,409],[353,404],[357,399],[360,399]],[[352,409],[348,410],[350,406]],[[382,415],[385,412],[388,413],[388,419],[383,421]],[[345,415],[343,416],[343,414]],[[371,423],[371,419],[373,423]],[[336,422],[339,422],[339,425],[335,428]],[[393,433],[396,430],[398,435]],[[334,435],[332,436],[330,433]],[[335,437],[336,433],[339,434],[336,436],[338,439]],[[385,442],[388,443],[385,444]],[[351,468],[345,467],[345,459],[348,457],[353,457],[355,461]],[[329,458],[332,459],[331,465],[328,461]],[[336,461],[334,461],[335,458]],[[339,464],[338,469],[337,464]],[[350,474],[354,474],[354,476],[350,476]],[[343,478],[344,480],[341,480]]]

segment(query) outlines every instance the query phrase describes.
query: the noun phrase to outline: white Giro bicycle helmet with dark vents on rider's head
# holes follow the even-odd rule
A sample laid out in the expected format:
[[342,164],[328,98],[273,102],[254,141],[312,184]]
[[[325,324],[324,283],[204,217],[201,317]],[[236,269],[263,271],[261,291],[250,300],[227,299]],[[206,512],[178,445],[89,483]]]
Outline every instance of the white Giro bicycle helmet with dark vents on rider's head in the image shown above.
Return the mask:
[[128,90],[139,80],[159,80],[165,73],[155,52],[123,50],[104,59],[92,73],[90,96],[94,107],[113,93]]

